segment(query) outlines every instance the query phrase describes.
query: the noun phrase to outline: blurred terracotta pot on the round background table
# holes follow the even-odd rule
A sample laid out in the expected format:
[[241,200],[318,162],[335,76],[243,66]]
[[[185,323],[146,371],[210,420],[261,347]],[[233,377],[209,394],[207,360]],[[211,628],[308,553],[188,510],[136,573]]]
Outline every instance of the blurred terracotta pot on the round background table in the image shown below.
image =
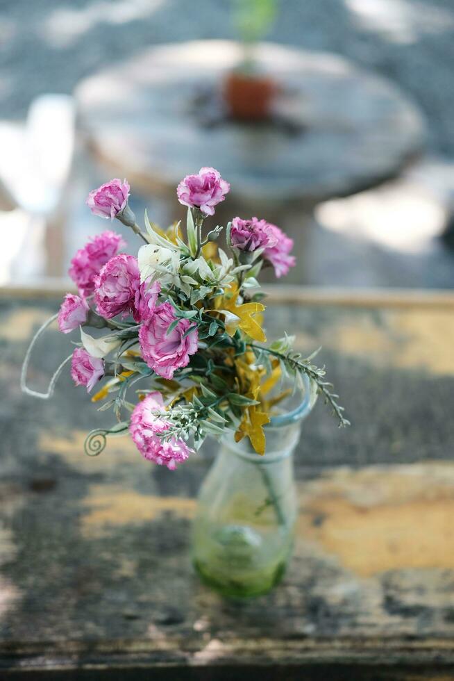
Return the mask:
[[224,99],[229,113],[238,120],[267,118],[276,91],[276,83],[269,76],[232,71],[224,81]]

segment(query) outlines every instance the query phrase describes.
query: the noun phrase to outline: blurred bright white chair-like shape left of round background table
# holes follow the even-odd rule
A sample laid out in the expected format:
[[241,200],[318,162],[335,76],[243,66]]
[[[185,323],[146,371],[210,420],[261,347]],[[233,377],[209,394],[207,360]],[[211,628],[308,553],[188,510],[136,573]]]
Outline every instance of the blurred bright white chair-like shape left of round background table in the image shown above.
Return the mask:
[[[0,279],[9,270],[30,278],[44,269],[60,273],[62,197],[72,167],[76,108],[69,95],[42,95],[35,99],[25,124],[0,122],[0,186],[2,204],[12,208],[4,229],[6,247],[0,261]],[[11,210],[11,208],[7,208]],[[5,210],[2,206],[2,210]]]

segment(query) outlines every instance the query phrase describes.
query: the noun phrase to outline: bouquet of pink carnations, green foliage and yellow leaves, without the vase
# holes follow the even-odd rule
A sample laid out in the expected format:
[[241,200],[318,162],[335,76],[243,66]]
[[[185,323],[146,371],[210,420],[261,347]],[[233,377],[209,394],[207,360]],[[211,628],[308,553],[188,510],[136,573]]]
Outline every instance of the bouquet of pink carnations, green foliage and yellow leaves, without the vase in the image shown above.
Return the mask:
[[[224,228],[205,230],[205,219],[229,189],[210,167],[180,182],[185,238],[179,223],[163,231],[146,213],[142,231],[126,181],[114,179],[90,192],[92,213],[120,220],[143,244],[135,258],[120,252],[126,244],[119,234],[105,231],[76,253],[69,275],[78,295],[67,293],[58,315],[37,332],[22,370],[22,388],[35,397],[51,397],[69,361],[74,383],[87,392],[104,381],[92,402],[101,403],[102,411],[112,409],[117,422],[88,434],[87,454],[99,454],[107,436],[129,432],[143,457],[173,470],[206,436],[221,438],[228,430],[235,441],[249,438],[253,450],[264,454],[264,425],[288,388],[272,400],[268,395],[283,378],[298,390],[306,377],[339,426],[348,424],[325,370],[313,356],[304,359],[293,350],[292,336],[264,345],[258,276],[272,266],[282,277],[294,266],[292,239],[265,220],[233,218],[225,230],[226,254],[216,243]],[[47,393],[37,393],[26,386],[28,362],[37,337],[55,319],[64,334],[80,328],[81,341]],[[101,335],[88,334],[87,327]]]

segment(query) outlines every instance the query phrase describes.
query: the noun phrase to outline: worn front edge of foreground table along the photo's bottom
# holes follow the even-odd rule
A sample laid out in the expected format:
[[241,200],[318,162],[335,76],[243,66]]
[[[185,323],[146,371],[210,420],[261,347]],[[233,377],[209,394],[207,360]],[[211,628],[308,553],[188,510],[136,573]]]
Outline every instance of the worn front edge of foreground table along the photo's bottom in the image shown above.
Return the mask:
[[[383,650],[386,650],[386,661]],[[219,641],[219,651],[203,650],[200,640],[184,639],[169,644],[146,639],[131,641],[54,641],[21,644],[11,642],[0,645],[0,671],[21,671],[43,668],[69,670],[87,664],[117,664],[119,666],[159,666],[178,668],[190,666],[222,666],[223,664],[280,666],[281,664],[386,664],[421,665],[439,664],[454,668],[454,641],[452,639],[406,640],[405,637],[389,639],[253,639],[250,641]]]

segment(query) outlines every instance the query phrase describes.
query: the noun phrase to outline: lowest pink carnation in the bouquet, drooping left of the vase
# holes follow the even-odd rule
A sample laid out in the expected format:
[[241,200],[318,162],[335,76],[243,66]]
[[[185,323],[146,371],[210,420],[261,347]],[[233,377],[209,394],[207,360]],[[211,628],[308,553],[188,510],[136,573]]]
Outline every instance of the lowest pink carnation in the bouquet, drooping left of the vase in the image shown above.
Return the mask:
[[149,393],[135,406],[129,431],[142,457],[174,470],[177,463],[185,461],[192,454],[192,450],[184,440],[171,438],[165,442],[159,437],[159,433],[169,429],[169,424],[154,413],[163,409],[162,395],[158,392]]

